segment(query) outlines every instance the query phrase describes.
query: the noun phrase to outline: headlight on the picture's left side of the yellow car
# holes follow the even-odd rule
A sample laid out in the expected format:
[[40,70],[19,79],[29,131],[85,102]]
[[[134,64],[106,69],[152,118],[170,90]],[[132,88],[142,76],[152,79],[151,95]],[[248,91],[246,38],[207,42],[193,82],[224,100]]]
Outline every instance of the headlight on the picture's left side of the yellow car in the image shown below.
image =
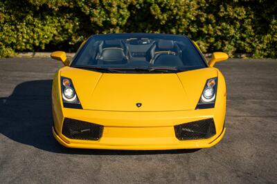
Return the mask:
[[71,79],[61,77],[62,103],[64,108],[82,109]]

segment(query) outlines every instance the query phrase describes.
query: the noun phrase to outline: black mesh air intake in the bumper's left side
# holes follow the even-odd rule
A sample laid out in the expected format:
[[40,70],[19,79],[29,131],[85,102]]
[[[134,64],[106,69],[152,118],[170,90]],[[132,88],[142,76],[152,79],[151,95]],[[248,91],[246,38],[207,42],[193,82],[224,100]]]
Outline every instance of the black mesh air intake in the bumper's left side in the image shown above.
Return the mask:
[[102,137],[103,126],[75,119],[64,119],[62,134],[69,139],[97,141]]

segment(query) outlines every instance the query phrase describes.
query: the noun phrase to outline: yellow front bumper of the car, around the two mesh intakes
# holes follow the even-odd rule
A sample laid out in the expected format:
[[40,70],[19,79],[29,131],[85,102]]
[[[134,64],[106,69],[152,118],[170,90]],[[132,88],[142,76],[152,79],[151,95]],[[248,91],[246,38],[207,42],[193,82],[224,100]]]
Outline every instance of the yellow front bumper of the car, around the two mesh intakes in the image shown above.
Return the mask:
[[[224,136],[225,109],[175,112],[109,112],[53,107],[53,135],[65,147],[107,150],[174,150],[211,147]],[[62,134],[64,118],[104,126],[98,141],[69,139]],[[213,118],[216,134],[208,139],[179,141],[174,125]]]

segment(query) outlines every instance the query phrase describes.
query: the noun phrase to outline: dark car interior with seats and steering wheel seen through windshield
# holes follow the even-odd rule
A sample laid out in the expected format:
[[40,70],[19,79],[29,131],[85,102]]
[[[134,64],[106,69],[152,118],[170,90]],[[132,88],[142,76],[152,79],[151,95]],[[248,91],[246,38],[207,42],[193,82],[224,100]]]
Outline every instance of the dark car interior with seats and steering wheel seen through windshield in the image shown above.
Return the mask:
[[[191,66],[189,49],[181,41],[128,38],[95,41],[79,65],[102,67]],[[187,59],[188,58],[188,59]]]

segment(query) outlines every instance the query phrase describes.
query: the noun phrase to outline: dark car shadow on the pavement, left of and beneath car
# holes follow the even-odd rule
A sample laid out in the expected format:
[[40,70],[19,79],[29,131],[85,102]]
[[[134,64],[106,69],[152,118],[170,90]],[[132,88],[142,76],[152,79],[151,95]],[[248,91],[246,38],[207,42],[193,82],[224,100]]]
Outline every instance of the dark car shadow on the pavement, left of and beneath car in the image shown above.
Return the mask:
[[18,143],[64,154],[184,154],[197,151],[82,150],[63,147],[55,141],[51,132],[51,85],[52,80],[27,81],[17,85],[7,98],[0,98],[0,133]]

